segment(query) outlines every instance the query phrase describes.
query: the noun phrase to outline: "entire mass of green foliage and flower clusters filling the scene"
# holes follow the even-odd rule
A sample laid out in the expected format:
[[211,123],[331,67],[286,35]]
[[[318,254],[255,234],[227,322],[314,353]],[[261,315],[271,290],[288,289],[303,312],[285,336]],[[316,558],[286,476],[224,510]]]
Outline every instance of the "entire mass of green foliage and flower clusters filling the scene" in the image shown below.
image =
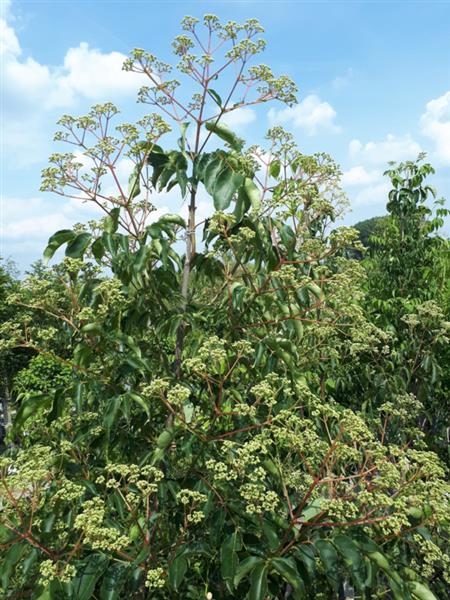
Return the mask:
[[[431,167],[392,165],[389,216],[370,256],[349,258],[363,248],[333,225],[332,159],[280,128],[246,148],[220,123],[295,101],[286,77],[245,71],[259,24],[183,27],[189,104],[154,56],[125,65],[149,76],[140,99],[172,118],[177,147],[161,114],[118,137],[110,104],[63,117],[57,139],[90,168],[55,154],[43,187],[105,218],[55,233],[44,255],[65,247],[61,263],[1,297],[2,360],[34,356],[11,376],[0,458],[3,597],[444,598],[448,242]],[[173,187],[188,222],[149,224],[151,194]],[[198,193],[216,211],[200,224]]]

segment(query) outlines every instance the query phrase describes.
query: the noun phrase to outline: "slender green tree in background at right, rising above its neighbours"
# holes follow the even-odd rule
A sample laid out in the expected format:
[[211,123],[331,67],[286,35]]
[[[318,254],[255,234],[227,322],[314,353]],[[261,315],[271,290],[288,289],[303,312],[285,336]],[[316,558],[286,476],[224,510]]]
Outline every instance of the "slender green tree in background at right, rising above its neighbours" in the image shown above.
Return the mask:
[[[385,402],[386,389],[412,393],[423,404],[421,432],[447,454],[450,362],[449,241],[439,234],[449,211],[442,199],[427,203],[436,192],[426,177],[434,172],[423,157],[391,165],[388,216],[365,260],[365,306],[375,324],[389,332],[392,357],[382,365],[366,365],[371,375],[372,401]],[[381,367],[381,368],[380,368]],[[356,378],[355,378],[356,379]]]

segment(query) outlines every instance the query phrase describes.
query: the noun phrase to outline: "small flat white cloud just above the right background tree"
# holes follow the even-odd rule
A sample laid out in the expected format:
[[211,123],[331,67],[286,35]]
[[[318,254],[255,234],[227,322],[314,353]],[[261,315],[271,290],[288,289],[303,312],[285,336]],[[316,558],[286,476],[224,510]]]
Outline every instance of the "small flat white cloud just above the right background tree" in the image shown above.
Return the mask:
[[352,140],[349,154],[352,159],[364,163],[386,165],[390,160],[401,161],[414,159],[421,152],[420,145],[408,133],[403,136],[388,134],[381,142]]

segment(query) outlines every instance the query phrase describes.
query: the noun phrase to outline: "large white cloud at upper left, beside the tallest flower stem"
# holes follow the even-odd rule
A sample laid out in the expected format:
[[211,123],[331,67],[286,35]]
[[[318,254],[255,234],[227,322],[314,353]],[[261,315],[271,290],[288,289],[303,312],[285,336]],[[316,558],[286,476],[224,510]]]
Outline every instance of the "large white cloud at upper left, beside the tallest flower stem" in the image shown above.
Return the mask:
[[57,66],[25,56],[8,7],[2,3],[0,19],[2,153],[8,166],[22,168],[48,154],[49,129],[61,109],[133,97],[148,82],[143,75],[122,70],[125,55],[105,53],[85,42],[69,48]]

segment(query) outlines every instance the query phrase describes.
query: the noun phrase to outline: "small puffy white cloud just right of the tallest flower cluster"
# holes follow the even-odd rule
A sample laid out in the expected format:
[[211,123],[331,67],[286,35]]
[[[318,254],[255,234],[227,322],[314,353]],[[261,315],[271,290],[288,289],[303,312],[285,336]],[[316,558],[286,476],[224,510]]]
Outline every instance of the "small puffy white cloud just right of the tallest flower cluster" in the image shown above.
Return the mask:
[[307,135],[337,133],[340,131],[334,123],[336,118],[334,108],[314,94],[306,96],[304,100],[295,106],[281,110],[271,108],[268,117],[271,125],[290,123],[294,127],[303,129]]

